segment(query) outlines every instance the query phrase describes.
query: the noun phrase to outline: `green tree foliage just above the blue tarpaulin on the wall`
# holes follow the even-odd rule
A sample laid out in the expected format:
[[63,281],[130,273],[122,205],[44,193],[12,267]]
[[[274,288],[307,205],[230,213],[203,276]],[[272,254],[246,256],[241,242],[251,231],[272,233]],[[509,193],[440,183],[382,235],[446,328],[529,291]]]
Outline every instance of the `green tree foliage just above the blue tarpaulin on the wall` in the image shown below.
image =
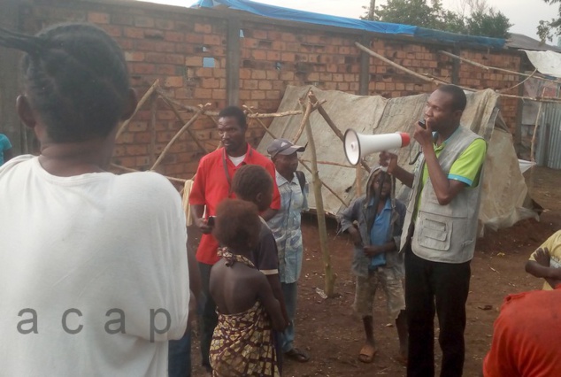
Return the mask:
[[[544,0],[558,1],[561,0]],[[361,17],[368,19],[367,15]],[[508,38],[512,26],[502,12],[488,8],[479,2],[469,17],[442,7],[441,0],[388,0],[388,4],[376,7],[374,20],[396,24],[414,25],[451,33]]]

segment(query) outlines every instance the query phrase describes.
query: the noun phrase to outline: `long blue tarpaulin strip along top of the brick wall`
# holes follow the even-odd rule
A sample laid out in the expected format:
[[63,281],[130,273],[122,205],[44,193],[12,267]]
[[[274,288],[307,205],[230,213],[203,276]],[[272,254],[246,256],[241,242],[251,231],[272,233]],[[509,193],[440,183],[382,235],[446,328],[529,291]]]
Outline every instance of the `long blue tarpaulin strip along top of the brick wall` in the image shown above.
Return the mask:
[[488,38],[484,36],[459,35],[442,32],[425,27],[413,27],[410,25],[392,24],[380,21],[367,21],[365,19],[349,19],[346,17],[329,16],[314,12],[297,11],[296,9],[283,8],[268,4],[260,4],[250,0],[199,0],[193,7],[212,8],[217,5],[227,6],[230,9],[250,12],[272,19],[285,19],[289,21],[305,22],[316,25],[327,25],[331,27],[346,27],[350,29],[363,30],[366,32],[411,35],[420,38],[434,39],[441,42],[469,42],[482,44],[493,48],[503,48],[505,43],[501,38]]

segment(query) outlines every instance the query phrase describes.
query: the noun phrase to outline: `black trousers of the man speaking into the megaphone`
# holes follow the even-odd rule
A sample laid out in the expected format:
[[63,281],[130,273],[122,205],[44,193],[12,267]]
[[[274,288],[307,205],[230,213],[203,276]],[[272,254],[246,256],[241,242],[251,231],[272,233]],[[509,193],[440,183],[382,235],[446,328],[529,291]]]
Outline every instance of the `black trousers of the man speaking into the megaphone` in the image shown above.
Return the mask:
[[434,376],[434,311],[438,315],[442,377],[461,376],[465,357],[465,301],[470,262],[431,262],[405,254],[405,305],[409,326],[407,376]]

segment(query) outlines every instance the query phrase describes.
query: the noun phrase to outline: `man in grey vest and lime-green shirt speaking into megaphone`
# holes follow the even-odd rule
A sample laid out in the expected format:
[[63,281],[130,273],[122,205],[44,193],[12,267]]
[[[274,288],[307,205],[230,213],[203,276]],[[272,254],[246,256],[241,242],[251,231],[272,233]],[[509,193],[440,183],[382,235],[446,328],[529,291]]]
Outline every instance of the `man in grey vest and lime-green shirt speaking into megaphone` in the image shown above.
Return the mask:
[[464,91],[455,85],[428,97],[426,125],[416,124],[413,133],[423,151],[413,173],[397,165],[395,154],[380,153],[380,165],[412,188],[400,250],[405,253],[409,377],[434,376],[434,312],[441,376],[463,373],[465,302],[487,151],[484,139],[460,127],[465,104]]

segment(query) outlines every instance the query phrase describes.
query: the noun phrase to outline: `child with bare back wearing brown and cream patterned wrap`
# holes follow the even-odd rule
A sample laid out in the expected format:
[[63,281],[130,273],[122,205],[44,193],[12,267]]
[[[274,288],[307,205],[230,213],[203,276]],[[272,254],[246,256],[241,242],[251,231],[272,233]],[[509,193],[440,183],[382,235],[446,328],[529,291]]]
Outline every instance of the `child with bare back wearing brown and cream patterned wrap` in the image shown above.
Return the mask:
[[226,199],[219,204],[212,235],[223,248],[212,266],[210,292],[219,323],[211,342],[212,375],[280,376],[273,329],[286,321],[265,275],[251,262],[261,219],[255,204]]

